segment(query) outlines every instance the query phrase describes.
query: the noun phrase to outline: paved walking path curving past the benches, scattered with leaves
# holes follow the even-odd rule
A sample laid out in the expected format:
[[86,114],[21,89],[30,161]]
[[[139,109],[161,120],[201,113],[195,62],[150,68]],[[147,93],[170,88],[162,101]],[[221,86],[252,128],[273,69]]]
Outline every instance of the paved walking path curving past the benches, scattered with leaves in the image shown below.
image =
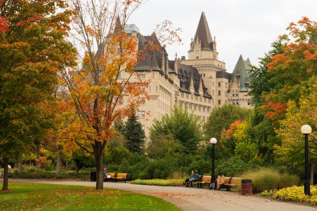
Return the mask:
[[[58,185],[96,186],[96,182],[42,181],[11,179],[9,182],[44,183]],[[104,182],[105,188],[116,188],[149,194],[171,202],[183,211],[316,211],[316,208],[293,203],[272,201],[259,196],[242,196],[238,192],[209,190],[197,187],[171,187],[132,185],[129,183]]]

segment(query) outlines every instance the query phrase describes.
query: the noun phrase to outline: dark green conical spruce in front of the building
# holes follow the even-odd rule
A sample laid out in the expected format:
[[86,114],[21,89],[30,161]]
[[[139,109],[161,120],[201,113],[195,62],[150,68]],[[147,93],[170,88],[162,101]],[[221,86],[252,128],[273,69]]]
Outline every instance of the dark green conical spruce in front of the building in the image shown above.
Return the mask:
[[145,133],[142,130],[142,125],[137,121],[135,113],[128,118],[127,122],[121,129],[122,134],[127,139],[126,147],[132,153],[143,154]]

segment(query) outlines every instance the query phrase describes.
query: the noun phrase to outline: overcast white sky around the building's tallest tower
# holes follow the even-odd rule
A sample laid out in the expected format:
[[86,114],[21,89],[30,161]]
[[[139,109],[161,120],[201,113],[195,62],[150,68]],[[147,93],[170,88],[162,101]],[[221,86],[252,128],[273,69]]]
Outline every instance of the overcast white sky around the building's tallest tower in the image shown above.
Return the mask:
[[129,19],[143,35],[150,35],[157,24],[172,21],[181,27],[184,46],[167,47],[169,59],[185,55],[194,37],[201,13],[205,12],[211,36],[216,36],[219,60],[231,73],[238,57],[257,65],[258,57],[270,50],[270,44],[291,22],[302,16],[317,21],[317,0],[149,0]]

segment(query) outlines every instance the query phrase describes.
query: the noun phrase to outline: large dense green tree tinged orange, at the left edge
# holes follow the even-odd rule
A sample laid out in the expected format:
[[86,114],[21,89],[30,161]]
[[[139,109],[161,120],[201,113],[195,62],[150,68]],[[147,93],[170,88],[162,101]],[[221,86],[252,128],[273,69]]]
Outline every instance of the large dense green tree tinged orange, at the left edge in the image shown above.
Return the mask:
[[53,126],[57,72],[75,64],[65,39],[71,12],[64,0],[0,1],[0,154],[3,190],[8,158],[36,149]]

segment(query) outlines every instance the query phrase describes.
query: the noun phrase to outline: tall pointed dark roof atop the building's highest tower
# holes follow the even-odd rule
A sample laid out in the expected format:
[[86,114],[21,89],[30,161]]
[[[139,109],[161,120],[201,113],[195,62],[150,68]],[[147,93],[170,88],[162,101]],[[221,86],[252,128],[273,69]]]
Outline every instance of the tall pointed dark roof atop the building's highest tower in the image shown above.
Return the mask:
[[212,50],[211,43],[213,41],[212,41],[210,29],[209,29],[207,19],[206,19],[204,12],[202,12],[202,14],[201,14],[201,17],[200,17],[200,20],[199,20],[199,23],[197,26],[197,30],[195,33],[195,37],[194,37],[193,42],[190,46],[190,51],[194,50],[194,44],[195,44],[197,38],[201,42],[201,49],[202,50]]

